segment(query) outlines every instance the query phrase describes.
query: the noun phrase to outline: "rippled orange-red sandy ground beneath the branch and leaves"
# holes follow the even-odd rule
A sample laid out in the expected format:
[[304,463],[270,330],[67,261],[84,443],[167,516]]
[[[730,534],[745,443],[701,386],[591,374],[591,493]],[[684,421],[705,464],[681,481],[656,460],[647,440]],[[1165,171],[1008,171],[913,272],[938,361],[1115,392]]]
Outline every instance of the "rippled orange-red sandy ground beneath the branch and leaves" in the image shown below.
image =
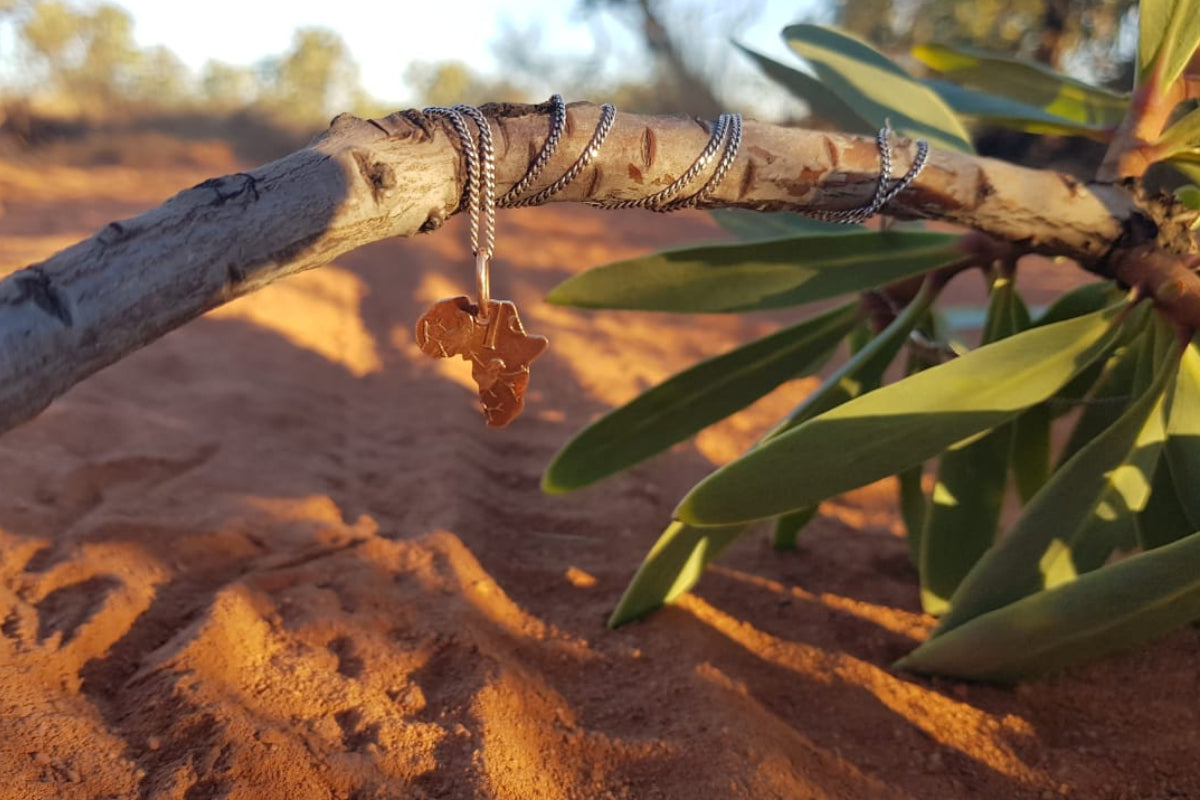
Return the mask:
[[[238,168],[194,161],[0,163],[0,272]],[[505,431],[410,333],[468,285],[456,221],[218,309],[0,438],[0,796],[1200,798],[1195,628],[1015,690],[890,669],[931,620],[884,485],[605,630],[679,494],[814,384],[547,498],[589,419],[782,317],[540,295],[719,236],[506,212],[496,294],[552,345]]]

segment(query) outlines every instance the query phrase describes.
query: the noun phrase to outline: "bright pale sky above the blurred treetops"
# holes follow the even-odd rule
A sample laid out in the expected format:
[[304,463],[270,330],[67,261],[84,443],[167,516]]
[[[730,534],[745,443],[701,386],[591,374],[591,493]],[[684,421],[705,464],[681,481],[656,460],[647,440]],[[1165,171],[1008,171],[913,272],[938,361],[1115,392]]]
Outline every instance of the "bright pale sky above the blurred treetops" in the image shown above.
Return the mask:
[[[336,30],[359,64],[364,88],[383,101],[412,102],[403,84],[413,60],[461,60],[480,72],[496,68],[492,42],[502,22],[517,29],[540,25],[542,46],[552,53],[593,48],[592,32],[575,11],[576,0],[113,0],[134,18],[144,47],[163,44],[193,70],[209,59],[252,64],[288,49],[296,28]],[[731,0],[738,2],[739,0]],[[712,4],[709,4],[712,5]],[[762,52],[787,58],[779,42],[784,25],[800,18],[818,0],[755,0],[758,22],[739,37]],[[629,34],[616,22],[606,26],[613,44],[628,47]]]

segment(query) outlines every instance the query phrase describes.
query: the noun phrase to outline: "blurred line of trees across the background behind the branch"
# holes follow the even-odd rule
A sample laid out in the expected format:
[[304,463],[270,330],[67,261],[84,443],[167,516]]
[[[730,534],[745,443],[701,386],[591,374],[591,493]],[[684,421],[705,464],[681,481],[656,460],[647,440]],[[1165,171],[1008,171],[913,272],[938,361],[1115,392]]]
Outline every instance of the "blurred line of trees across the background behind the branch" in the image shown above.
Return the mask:
[[[247,114],[312,132],[340,112],[395,107],[362,88],[358,62],[335,31],[301,28],[284,53],[253,65],[209,61],[198,74],[163,47],[140,48],[119,0],[0,0],[0,25],[19,54],[0,86],[41,114],[88,120]],[[758,73],[731,41],[758,23],[768,0],[575,0],[566,23],[586,30],[577,52],[542,23],[498,16],[493,72],[455,56],[410,64],[397,82],[413,104],[540,100],[551,91],[643,113],[715,118],[740,110],[800,121],[805,107]],[[796,0],[788,22],[833,23],[893,55],[938,41],[1036,58],[1076,77],[1127,85],[1135,0]],[[560,30],[560,29],[559,29]],[[10,41],[0,36],[0,44]],[[2,54],[0,54],[2,55]],[[781,59],[787,59],[781,55]],[[1123,82],[1123,84],[1122,84]],[[0,116],[0,120],[4,118]]]

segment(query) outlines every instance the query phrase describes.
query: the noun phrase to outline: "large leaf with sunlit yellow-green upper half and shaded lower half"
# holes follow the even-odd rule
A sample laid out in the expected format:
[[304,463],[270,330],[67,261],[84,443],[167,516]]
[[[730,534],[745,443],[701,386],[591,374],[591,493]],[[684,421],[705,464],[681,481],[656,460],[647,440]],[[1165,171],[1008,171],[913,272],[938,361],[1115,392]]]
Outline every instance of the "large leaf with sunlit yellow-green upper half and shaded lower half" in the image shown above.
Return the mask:
[[1046,399],[1116,335],[1120,306],[1037,327],[863,395],[701,481],[677,517],[774,517],[894,475]]

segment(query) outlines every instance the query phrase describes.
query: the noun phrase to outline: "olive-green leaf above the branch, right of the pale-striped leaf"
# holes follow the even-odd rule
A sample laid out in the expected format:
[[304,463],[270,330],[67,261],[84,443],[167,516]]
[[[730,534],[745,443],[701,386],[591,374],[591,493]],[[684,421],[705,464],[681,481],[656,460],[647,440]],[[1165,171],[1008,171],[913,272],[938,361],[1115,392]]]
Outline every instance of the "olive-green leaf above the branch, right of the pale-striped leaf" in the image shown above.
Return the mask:
[[[1085,133],[1115,128],[1129,110],[1127,95],[1068,78],[1040,64],[944,44],[922,44],[914,47],[912,54],[956,84],[1045,115],[1033,116],[1014,108],[1013,119],[1046,121],[1051,126],[1063,126],[1067,132]],[[972,102],[985,106],[982,98],[972,98]],[[950,106],[960,113],[971,113],[953,101]]]

